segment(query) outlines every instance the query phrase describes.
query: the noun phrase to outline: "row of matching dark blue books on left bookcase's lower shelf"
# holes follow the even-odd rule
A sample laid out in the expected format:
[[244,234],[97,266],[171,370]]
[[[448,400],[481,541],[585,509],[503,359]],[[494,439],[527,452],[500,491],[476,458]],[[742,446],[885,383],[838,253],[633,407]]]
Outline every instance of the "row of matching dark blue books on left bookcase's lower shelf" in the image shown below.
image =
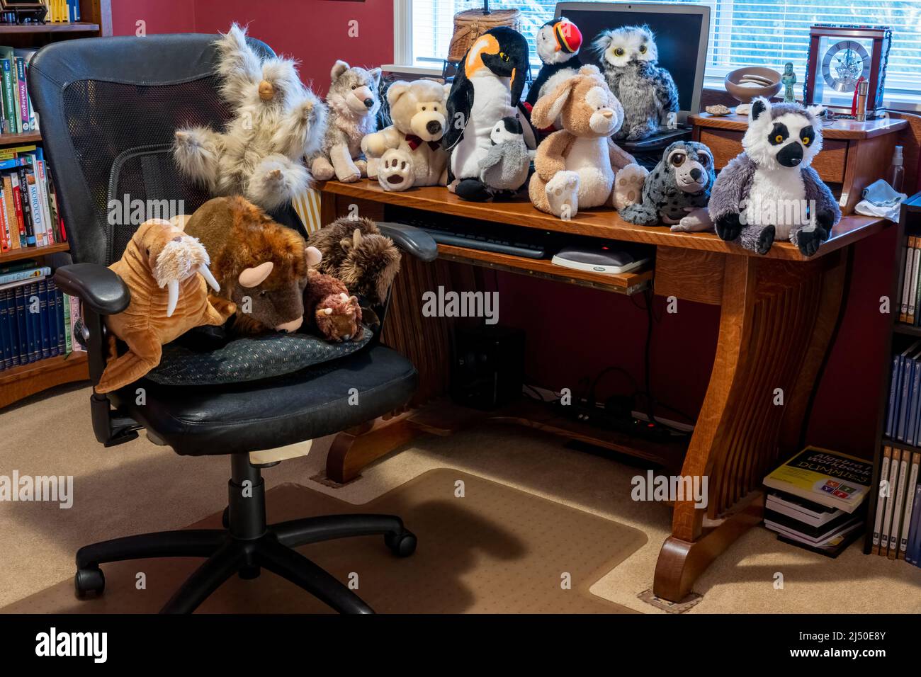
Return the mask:
[[79,302],[34,261],[0,266],[0,371],[83,350],[74,340]]

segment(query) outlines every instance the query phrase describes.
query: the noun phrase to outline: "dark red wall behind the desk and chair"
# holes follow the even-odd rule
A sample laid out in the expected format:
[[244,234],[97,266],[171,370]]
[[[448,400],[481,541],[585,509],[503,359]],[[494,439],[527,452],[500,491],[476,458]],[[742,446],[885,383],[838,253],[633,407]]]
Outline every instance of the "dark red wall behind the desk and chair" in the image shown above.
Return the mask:
[[[156,9],[155,9],[156,8]],[[112,7],[116,35],[133,35],[144,19],[148,33],[217,32],[234,21],[277,53],[300,61],[305,82],[325,93],[336,59],[379,65],[393,59],[392,0],[118,0]],[[349,37],[349,21],[357,37]],[[872,454],[880,387],[880,354],[888,319],[879,312],[888,293],[894,231],[855,248],[849,301],[822,379],[809,426],[812,444],[863,456]],[[624,368],[642,387],[647,315],[642,298],[498,274],[500,321],[528,330],[526,374],[548,388],[577,389],[610,365]],[[703,403],[717,343],[718,309],[682,302],[664,312],[656,298],[652,338],[652,391],[661,403],[694,417]],[[789,346],[790,350],[798,346]],[[609,374],[598,394],[633,391],[630,380]],[[660,414],[668,415],[666,411]],[[675,416],[681,418],[680,416]]]

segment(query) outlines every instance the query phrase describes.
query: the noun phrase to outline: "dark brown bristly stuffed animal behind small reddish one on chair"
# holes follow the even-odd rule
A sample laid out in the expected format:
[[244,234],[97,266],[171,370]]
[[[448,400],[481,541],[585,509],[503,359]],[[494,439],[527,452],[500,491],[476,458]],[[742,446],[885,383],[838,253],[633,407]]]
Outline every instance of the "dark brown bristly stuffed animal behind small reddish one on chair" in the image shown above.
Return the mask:
[[341,280],[364,308],[383,304],[400,272],[400,250],[369,218],[336,219],[311,233],[308,244],[321,251],[317,270]]

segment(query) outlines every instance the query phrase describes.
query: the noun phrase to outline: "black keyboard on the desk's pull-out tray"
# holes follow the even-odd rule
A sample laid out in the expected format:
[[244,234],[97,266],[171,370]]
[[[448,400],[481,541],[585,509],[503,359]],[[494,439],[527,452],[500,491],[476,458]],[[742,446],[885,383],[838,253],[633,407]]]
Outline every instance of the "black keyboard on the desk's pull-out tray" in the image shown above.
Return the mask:
[[387,205],[385,219],[421,228],[439,244],[467,247],[480,251],[547,258],[547,249],[557,239],[556,233],[539,228],[520,228],[462,216],[419,212],[415,209]]

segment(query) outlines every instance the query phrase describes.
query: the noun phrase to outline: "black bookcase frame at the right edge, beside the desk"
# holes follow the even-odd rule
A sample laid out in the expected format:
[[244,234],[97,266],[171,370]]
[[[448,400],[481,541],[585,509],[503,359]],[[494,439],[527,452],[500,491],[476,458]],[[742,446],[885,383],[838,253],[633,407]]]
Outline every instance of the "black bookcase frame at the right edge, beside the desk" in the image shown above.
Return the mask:
[[905,246],[909,235],[921,235],[921,193],[910,197],[902,206],[902,216],[899,219],[895,263],[892,265],[892,283],[890,286],[892,324],[889,336],[889,350],[883,351],[885,362],[882,365],[880,383],[880,406],[876,424],[876,449],[873,453],[873,480],[870,484],[869,506],[867,507],[867,528],[864,536],[864,553],[870,554],[873,547],[873,525],[876,520],[876,503],[880,494],[880,469],[882,467],[883,447],[893,449],[908,449],[921,451],[904,442],[899,442],[886,437],[886,417],[889,407],[890,380],[892,378],[892,358],[904,351],[909,344],[921,339],[921,327],[914,327],[899,322],[899,299],[902,297],[902,263],[900,261],[901,248]]

